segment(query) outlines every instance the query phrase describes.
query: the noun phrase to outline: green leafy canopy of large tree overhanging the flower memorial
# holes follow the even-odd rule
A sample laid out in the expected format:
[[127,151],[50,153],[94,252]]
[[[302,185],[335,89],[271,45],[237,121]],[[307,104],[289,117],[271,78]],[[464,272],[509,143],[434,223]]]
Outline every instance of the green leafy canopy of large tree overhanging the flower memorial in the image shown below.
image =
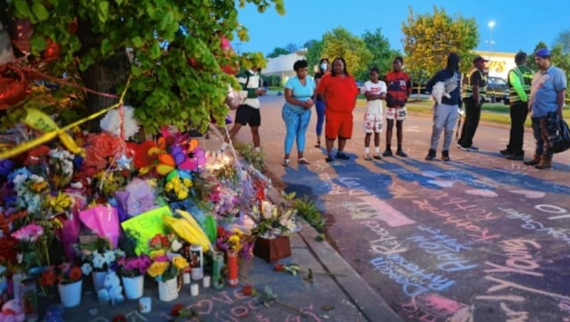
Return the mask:
[[[2,0],[0,14],[3,21],[31,21],[31,53],[36,57],[48,38],[61,45],[61,55],[50,66],[54,76],[65,71],[74,78],[70,81],[120,93],[130,74],[128,102],[147,133],[152,133],[168,124],[182,130],[190,124],[205,128],[211,113],[223,120],[228,84],[237,83],[222,72],[222,66],[241,62],[247,68],[263,60],[260,53],[238,57],[220,46],[222,36],[231,40],[234,33],[241,41],[248,40],[236,8],[247,4],[259,12],[274,6],[284,14],[283,0]],[[74,21],[76,32],[71,32]],[[126,48],[132,49],[132,63]],[[77,91],[70,97],[82,96]],[[84,104],[93,113],[115,102],[88,94]]]

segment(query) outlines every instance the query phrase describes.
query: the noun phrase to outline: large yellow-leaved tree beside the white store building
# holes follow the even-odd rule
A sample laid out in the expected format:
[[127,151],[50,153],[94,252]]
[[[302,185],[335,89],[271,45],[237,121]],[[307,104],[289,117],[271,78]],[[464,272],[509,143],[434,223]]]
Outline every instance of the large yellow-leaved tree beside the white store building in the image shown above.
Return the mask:
[[465,73],[472,68],[472,52],[479,42],[475,19],[460,14],[448,15],[445,9],[433,8],[433,14],[414,14],[410,7],[408,21],[402,23],[405,66],[417,75],[433,75],[445,66],[447,55],[455,51],[462,59]]

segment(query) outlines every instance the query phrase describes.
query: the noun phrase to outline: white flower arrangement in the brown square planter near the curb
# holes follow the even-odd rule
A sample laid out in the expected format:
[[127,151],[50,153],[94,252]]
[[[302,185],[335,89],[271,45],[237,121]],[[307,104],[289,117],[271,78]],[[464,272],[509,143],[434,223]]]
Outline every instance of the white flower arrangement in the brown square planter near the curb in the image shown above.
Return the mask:
[[297,232],[297,210],[284,209],[268,201],[262,201],[254,205],[251,217],[256,224],[252,229],[252,235],[272,239],[279,236],[289,236]]

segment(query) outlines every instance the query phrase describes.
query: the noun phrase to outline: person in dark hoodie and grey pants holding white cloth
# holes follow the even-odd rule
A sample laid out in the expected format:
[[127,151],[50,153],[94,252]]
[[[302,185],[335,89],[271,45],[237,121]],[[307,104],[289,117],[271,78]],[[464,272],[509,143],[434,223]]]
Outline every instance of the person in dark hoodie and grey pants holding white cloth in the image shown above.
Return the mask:
[[[427,82],[427,92],[431,93],[433,86],[438,82],[445,84],[445,92],[449,95],[442,96],[441,103],[435,103],[433,108],[433,128],[430,151],[427,152],[425,160],[432,160],[435,157],[437,143],[440,141],[442,130],[445,131],[443,139],[442,160],[450,161],[450,145],[453,137],[453,128],[459,118],[461,100],[461,73],[459,62],[461,58],[457,53],[450,53],[447,56],[447,66],[435,73],[435,76]],[[447,97],[449,96],[449,97]]]

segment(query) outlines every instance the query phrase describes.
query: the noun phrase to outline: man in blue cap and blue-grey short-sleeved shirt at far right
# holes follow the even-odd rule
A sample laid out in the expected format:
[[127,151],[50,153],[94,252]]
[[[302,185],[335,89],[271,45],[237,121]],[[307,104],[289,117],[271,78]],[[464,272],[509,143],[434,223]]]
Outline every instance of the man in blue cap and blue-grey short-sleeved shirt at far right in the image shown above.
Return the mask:
[[562,107],[566,98],[566,75],[560,68],[552,66],[550,51],[546,48],[534,53],[534,61],[539,71],[532,78],[529,112],[532,119],[532,132],[537,140],[534,158],[524,162],[537,169],[552,167],[553,152],[549,150],[546,121],[548,113],[557,113],[562,118]]

